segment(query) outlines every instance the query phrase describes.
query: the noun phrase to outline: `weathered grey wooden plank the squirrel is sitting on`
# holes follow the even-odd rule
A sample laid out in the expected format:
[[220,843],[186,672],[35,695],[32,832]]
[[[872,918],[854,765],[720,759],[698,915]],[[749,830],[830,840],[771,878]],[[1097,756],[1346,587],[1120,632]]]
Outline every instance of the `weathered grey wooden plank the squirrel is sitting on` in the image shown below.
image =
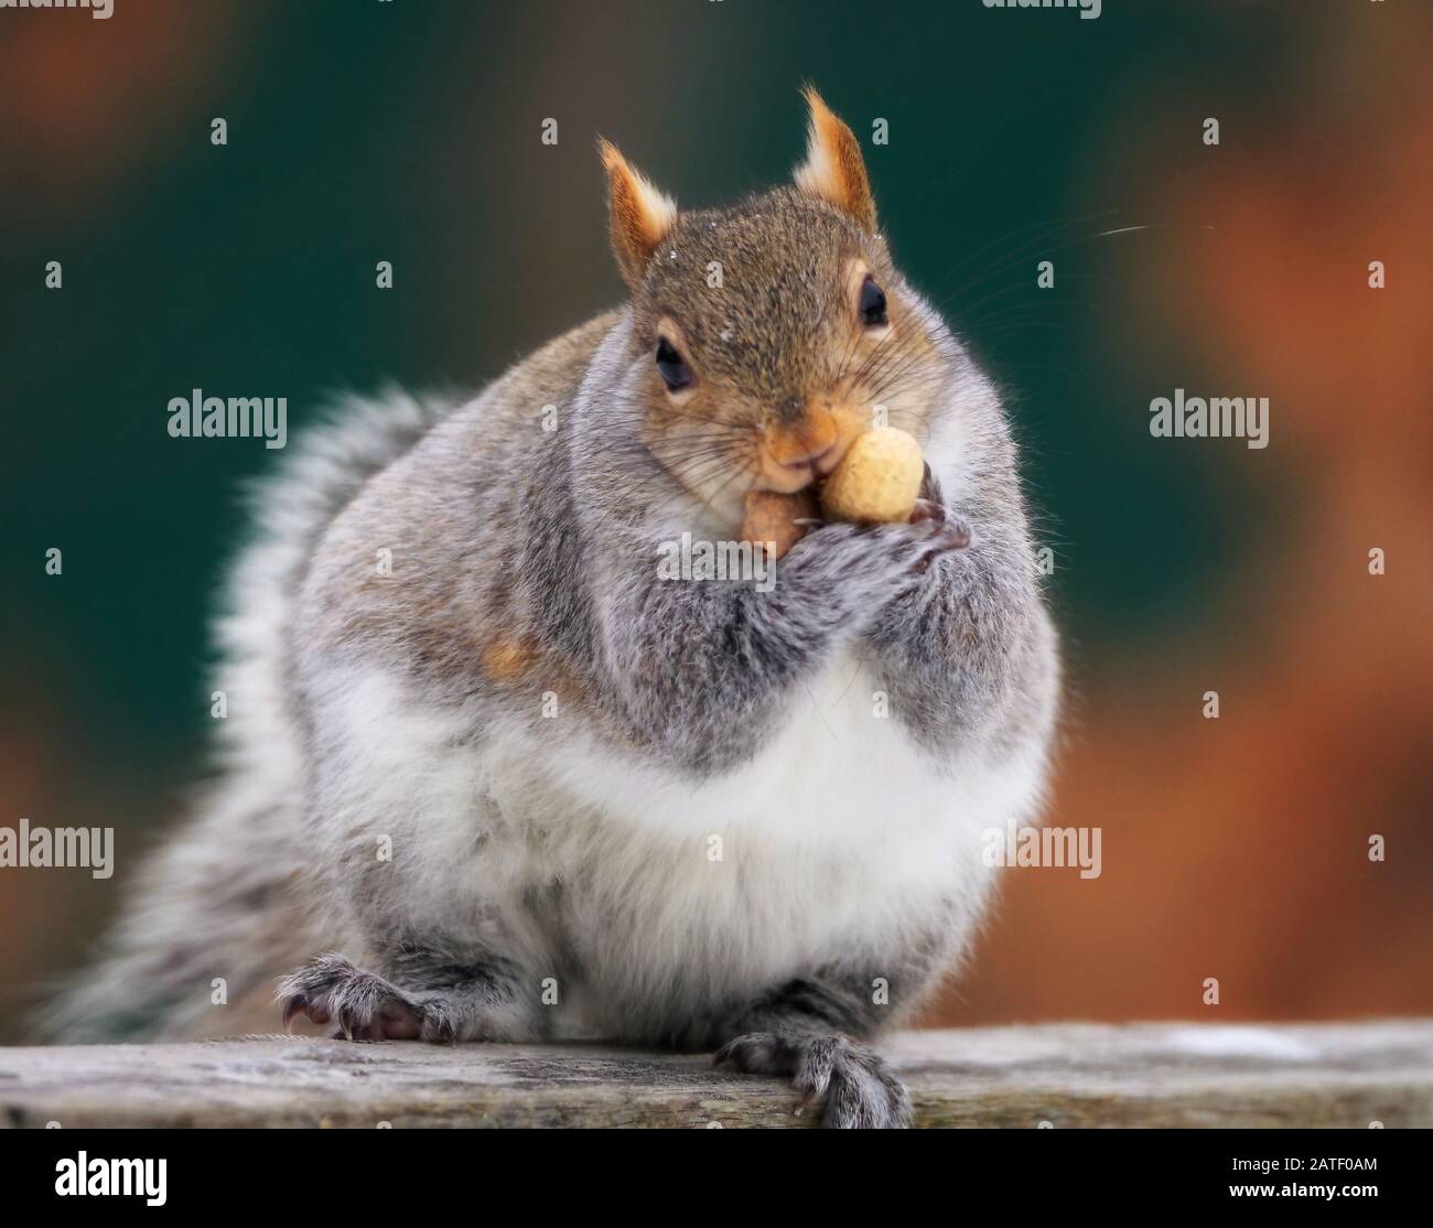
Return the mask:
[[[884,1046],[921,1126],[1433,1126],[1433,1020],[1048,1025]],[[609,1046],[0,1049],[0,1125],[801,1126],[778,1079]]]

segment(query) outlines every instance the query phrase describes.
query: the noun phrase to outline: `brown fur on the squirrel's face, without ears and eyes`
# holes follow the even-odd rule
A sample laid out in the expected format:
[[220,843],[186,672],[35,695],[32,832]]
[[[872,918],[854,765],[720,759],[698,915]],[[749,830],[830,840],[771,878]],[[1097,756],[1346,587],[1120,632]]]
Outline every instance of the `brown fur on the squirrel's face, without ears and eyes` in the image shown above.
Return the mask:
[[[886,330],[860,320],[867,272],[887,295]],[[751,490],[820,480],[891,400],[886,351],[900,348],[907,365],[940,363],[900,285],[880,236],[794,188],[679,215],[632,298],[635,357],[651,364],[648,447],[721,510]],[[694,375],[676,395],[656,371],[659,337]],[[919,430],[906,413],[898,424]]]

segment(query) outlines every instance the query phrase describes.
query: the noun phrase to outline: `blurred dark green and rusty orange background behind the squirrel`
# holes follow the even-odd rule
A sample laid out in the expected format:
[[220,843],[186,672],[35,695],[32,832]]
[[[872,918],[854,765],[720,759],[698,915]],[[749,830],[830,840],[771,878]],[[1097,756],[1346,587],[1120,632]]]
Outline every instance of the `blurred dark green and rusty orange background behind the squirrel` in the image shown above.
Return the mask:
[[[1069,669],[1049,820],[1103,833],[1096,880],[1006,874],[929,1022],[1433,1012],[1430,43],[1401,0],[0,11],[0,825],[113,825],[118,865],[0,868],[0,1039],[205,771],[274,457],[172,440],[169,398],[287,395],[292,434],[480,385],[622,294],[596,133],[718,203],[788,175],[804,80],[1009,391]],[[1176,387],[1270,397],[1268,448],[1152,438]]]

